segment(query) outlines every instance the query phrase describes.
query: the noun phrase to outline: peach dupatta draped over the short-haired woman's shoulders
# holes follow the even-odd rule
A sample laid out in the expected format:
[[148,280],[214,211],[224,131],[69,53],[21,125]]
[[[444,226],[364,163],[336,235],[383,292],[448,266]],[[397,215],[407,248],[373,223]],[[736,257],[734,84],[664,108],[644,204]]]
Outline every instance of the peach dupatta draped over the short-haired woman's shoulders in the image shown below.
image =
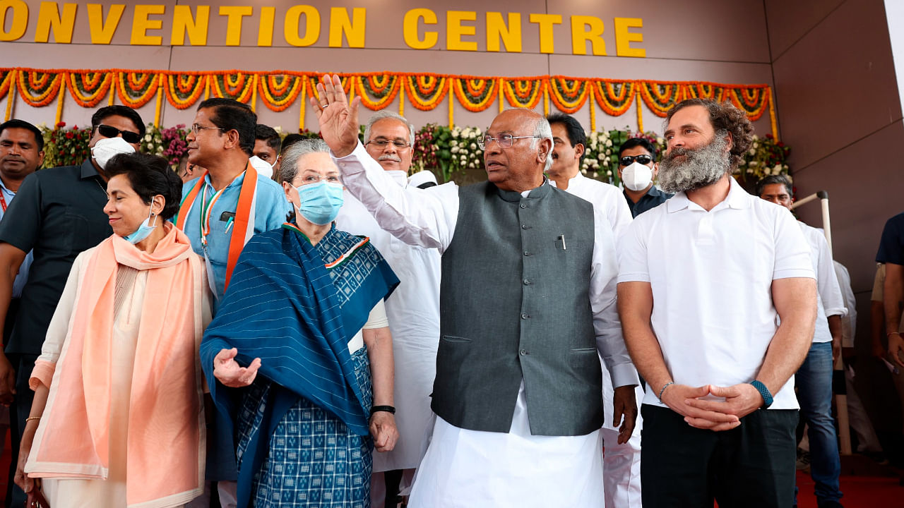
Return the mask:
[[[129,397],[128,506],[187,503],[201,494],[204,465],[198,343],[200,259],[172,225],[153,253],[113,235],[91,252],[56,365],[39,360],[32,383],[51,387],[25,471],[31,477],[106,479],[111,341],[118,266],[149,270]],[[51,379],[52,378],[52,379]]]

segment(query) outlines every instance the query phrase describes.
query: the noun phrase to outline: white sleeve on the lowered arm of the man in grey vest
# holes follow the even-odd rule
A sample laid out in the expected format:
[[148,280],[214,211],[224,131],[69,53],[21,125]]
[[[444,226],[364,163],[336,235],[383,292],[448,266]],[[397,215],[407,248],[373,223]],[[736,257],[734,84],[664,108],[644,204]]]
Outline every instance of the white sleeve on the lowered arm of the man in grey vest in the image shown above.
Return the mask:
[[593,266],[590,271],[590,309],[593,311],[593,329],[597,334],[597,350],[606,362],[612,377],[612,386],[639,384],[637,371],[627,353],[618,319],[616,282],[618,265],[612,226],[594,207]]

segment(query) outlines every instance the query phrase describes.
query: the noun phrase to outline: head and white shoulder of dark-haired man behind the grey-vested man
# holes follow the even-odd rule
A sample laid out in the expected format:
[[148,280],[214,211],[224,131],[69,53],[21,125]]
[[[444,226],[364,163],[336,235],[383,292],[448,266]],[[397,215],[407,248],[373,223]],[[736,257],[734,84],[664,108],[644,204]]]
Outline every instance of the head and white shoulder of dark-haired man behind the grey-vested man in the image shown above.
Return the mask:
[[587,135],[578,120],[569,115],[555,114],[547,118],[552,127],[552,165],[546,174],[553,187],[592,202],[606,214],[616,233],[621,236],[631,223],[631,211],[609,183],[588,178],[580,173],[580,163],[587,149]]

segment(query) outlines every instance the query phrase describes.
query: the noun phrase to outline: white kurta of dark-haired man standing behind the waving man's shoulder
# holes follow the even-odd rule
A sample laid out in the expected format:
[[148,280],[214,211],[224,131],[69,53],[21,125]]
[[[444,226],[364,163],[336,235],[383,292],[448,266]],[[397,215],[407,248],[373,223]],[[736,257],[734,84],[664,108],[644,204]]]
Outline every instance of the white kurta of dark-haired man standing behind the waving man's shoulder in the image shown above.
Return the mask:
[[[554,181],[551,180],[550,183],[552,186],[556,186]],[[625,196],[615,185],[599,182],[579,173],[569,180],[568,189],[565,189],[565,192],[590,202],[594,208],[606,215],[609,223],[612,224],[616,238],[619,238],[633,221]],[[606,507],[640,508],[640,433],[644,420],[638,412],[631,438],[625,444],[618,444],[618,428],[612,425],[612,382],[608,379],[606,362],[600,363],[603,369],[603,414],[605,415],[601,434],[606,447],[603,456]],[[644,400],[644,390],[639,385],[635,387],[635,398],[639,409]]]

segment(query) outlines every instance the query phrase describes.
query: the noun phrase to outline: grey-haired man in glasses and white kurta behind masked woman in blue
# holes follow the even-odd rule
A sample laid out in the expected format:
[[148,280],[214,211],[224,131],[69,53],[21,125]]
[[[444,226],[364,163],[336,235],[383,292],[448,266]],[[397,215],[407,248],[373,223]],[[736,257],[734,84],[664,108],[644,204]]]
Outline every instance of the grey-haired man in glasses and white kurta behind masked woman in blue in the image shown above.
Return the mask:
[[[401,188],[409,187],[414,155],[414,126],[391,111],[373,115],[364,127],[364,148]],[[336,227],[370,237],[399,287],[386,300],[395,363],[395,394],[400,439],[390,452],[373,454],[371,505],[395,506],[409,494],[430,423],[430,389],[437,373],[439,342],[439,252],[409,245],[382,230],[370,212],[347,190]]]

